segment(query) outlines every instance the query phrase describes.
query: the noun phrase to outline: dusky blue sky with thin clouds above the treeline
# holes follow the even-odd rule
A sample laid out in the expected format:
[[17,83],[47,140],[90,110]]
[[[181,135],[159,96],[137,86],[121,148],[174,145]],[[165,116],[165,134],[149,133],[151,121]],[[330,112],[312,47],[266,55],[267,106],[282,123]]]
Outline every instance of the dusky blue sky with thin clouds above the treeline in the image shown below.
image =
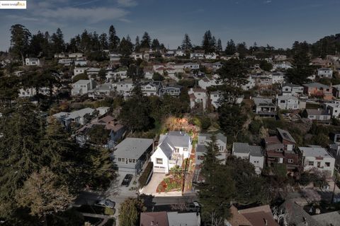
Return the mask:
[[8,49],[11,25],[21,23],[30,32],[51,34],[57,28],[65,40],[84,29],[118,36],[143,32],[175,48],[188,33],[200,44],[205,30],[222,40],[251,46],[291,47],[295,40],[315,42],[340,32],[339,0],[28,0],[27,10],[0,10],[0,50]]

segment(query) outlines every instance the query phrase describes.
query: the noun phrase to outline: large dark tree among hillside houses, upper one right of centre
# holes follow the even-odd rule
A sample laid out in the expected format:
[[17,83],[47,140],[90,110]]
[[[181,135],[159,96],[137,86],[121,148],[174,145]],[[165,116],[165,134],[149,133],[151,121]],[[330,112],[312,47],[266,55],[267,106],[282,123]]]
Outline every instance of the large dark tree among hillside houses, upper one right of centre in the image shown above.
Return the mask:
[[222,67],[218,70],[222,89],[225,93],[225,102],[236,103],[237,97],[243,93],[242,85],[247,83],[247,70],[238,59],[230,59],[225,61]]

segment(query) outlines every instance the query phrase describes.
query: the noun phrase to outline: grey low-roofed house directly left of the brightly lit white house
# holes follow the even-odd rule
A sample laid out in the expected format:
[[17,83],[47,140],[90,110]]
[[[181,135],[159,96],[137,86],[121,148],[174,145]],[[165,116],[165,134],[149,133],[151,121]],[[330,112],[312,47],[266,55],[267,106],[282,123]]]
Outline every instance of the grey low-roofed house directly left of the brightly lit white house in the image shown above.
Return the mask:
[[144,163],[152,153],[154,140],[145,138],[125,138],[115,146],[111,158],[118,172],[140,174]]

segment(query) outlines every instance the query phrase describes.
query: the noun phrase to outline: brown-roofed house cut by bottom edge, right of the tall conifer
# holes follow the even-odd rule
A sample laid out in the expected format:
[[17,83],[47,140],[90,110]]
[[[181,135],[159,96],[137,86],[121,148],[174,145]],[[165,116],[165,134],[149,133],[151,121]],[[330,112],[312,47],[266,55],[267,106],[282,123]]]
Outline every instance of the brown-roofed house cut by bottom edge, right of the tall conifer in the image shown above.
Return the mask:
[[227,226],[279,226],[273,218],[269,205],[243,210],[231,206],[230,213],[232,217],[225,221]]

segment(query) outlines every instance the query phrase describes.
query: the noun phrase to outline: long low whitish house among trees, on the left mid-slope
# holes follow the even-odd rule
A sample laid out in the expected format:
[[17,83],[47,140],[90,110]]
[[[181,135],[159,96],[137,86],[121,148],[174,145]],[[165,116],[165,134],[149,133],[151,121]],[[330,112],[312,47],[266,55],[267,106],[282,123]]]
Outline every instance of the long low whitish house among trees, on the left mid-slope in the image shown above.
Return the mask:
[[52,117],[60,121],[60,123],[66,127],[68,127],[72,122],[84,126],[91,116],[94,115],[94,112],[95,109],[86,107],[74,112],[59,112],[57,114],[53,114]]

